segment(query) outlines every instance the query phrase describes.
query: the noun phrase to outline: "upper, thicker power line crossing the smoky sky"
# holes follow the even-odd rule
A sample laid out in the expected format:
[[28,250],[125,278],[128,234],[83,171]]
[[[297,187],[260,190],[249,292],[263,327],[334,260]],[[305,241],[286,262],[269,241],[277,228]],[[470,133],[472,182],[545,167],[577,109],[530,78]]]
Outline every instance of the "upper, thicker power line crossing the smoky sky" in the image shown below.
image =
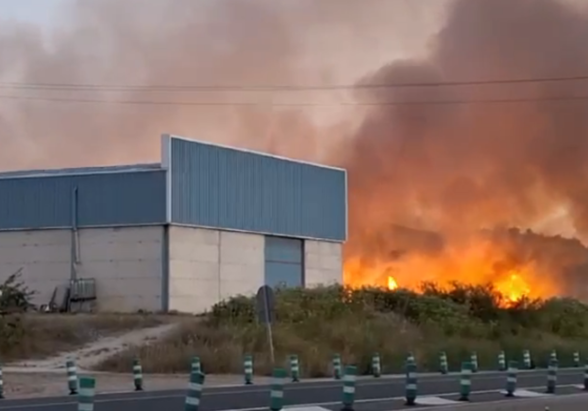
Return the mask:
[[276,91],[313,91],[313,90],[357,90],[383,88],[413,88],[413,87],[449,87],[449,86],[485,86],[509,85],[526,83],[572,82],[588,80],[585,76],[539,77],[519,79],[468,80],[455,82],[413,82],[413,83],[368,83],[368,84],[339,84],[339,85],[275,85],[275,86],[239,86],[239,85],[105,85],[91,83],[20,83],[0,82],[0,89],[23,90],[61,90],[61,91],[116,91],[116,92],[276,92]]

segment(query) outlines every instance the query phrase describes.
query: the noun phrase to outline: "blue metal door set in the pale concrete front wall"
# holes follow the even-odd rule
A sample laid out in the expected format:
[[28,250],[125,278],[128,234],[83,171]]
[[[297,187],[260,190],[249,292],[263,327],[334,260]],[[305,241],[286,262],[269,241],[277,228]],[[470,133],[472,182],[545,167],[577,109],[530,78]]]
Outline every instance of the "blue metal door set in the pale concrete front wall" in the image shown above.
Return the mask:
[[265,284],[270,287],[302,287],[303,240],[265,237]]

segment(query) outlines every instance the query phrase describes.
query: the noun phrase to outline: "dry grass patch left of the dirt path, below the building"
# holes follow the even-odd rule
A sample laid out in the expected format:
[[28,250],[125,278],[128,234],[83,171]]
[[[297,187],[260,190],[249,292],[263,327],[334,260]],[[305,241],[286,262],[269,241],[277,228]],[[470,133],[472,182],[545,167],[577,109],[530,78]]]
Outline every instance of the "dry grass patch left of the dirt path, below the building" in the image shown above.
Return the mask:
[[163,316],[137,314],[10,315],[0,319],[0,353],[5,362],[43,358],[166,321]]

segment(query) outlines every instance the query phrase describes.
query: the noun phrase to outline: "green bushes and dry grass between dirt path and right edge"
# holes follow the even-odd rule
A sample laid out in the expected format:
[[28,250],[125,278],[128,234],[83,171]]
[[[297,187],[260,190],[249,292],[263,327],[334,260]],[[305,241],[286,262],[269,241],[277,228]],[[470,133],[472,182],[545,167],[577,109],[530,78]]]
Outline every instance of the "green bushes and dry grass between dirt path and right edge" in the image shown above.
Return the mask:
[[[276,292],[273,325],[276,361],[297,354],[305,376],[330,373],[333,353],[345,363],[369,372],[374,352],[385,372],[398,372],[408,352],[420,370],[437,370],[445,351],[450,368],[476,351],[480,368],[496,369],[497,355],[522,360],[523,349],[545,366],[556,349],[560,366],[569,366],[574,351],[586,349],[588,306],[573,299],[507,305],[491,287],[423,285],[407,290],[283,289]],[[271,369],[265,326],[256,320],[255,299],[236,297],[216,305],[203,318],[186,321],[175,335],[142,347],[131,347],[99,366],[128,372],[140,356],[146,372],[186,372],[198,355],[208,373],[242,373],[243,355],[254,355],[256,373]],[[588,355],[588,352],[583,354]]]

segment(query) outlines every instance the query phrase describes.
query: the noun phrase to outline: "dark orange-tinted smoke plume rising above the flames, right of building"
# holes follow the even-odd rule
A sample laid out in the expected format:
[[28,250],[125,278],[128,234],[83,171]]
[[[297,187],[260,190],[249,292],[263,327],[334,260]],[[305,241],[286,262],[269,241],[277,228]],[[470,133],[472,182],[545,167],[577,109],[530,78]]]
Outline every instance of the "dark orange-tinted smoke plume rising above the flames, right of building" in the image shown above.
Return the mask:
[[[396,60],[359,85],[588,75],[586,41],[588,14],[569,2],[457,0],[426,58]],[[349,254],[381,254],[393,223],[449,241],[495,227],[588,238],[588,100],[539,101],[588,97],[588,80],[358,96],[439,104],[377,106],[365,117],[345,161]],[[528,101],[455,103],[507,99]]]

